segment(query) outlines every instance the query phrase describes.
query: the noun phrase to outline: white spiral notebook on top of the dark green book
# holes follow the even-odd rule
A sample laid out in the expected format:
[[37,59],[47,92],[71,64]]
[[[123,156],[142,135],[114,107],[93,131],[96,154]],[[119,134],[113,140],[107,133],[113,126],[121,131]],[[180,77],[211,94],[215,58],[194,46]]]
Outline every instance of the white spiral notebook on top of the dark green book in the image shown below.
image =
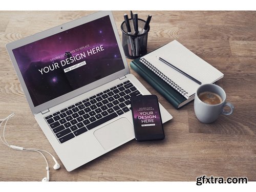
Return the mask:
[[223,73],[188,50],[177,40],[169,42],[163,47],[140,58],[140,62],[186,99],[195,96],[200,84],[169,67],[160,61],[158,59],[159,57],[172,63],[172,65],[199,80],[202,84],[214,83],[224,76]]

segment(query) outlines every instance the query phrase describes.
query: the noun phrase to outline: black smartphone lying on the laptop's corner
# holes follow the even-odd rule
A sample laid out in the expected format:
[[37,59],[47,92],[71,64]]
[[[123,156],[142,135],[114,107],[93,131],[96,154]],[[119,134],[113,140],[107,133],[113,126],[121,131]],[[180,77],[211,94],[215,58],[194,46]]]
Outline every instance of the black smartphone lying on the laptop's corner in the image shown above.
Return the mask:
[[135,139],[150,141],[164,139],[163,124],[156,95],[131,98]]

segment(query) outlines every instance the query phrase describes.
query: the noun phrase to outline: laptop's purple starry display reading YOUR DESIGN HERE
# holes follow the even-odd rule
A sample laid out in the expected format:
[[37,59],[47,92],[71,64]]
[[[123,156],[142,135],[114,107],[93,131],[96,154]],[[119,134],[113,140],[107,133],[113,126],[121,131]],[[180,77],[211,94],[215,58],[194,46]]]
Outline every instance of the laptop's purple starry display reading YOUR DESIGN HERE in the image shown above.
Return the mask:
[[124,69],[109,16],[13,49],[34,106]]

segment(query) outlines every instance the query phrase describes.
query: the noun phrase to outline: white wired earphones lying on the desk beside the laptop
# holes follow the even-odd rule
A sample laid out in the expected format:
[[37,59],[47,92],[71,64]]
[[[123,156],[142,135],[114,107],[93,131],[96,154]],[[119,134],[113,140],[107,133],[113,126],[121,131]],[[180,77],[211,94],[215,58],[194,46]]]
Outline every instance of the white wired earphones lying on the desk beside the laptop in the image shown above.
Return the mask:
[[53,165],[53,168],[54,168],[55,170],[57,170],[57,169],[60,168],[60,165],[59,165],[59,163],[57,162],[57,160],[55,159],[55,157],[53,157],[52,154],[50,154],[49,152],[44,151],[44,150],[38,150],[37,148],[24,148],[24,147],[21,147],[21,146],[9,145],[8,142],[6,141],[6,139],[5,139],[5,127],[6,127],[6,123],[7,123],[8,119],[11,118],[11,117],[13,117],[13,116],[14,116],[14,113],[12,113],[11,115],[9,115],[9,116],[6,117],[5,119],[0,119],[0,122],[1,122],[1,123],[0,123],[0,128],[1,128],[2,123],[3,123],[4,121],[6,121],[6,122],[5,122],[5,125],[4,125],[4,130],[3,130],[3,139],[4,139],[4,140],[2,139],[2,137],[1,137],[1,135],[0,135],[1,141],[2,141],[5,145],[7,145],[8,147],[13,148],[13,150],[18,150],[18,151],[33,151],[33,152],[38,152],[38,153],[40,153],[40,154],[44,157],[44,159],[45,159],[45,161],[46,161],[46,164],[47,164],[47,167],[46,167],[46,170],[47,170],[47,177],[43,178],[42,181],[50,181],[49,165],[48,165],[48,162],[47,162],[47,159],[46,159],[45,155],[42,154],[41,152],[48,153],[48,154],[52,157],[53,161],[55,162],[55,164]]

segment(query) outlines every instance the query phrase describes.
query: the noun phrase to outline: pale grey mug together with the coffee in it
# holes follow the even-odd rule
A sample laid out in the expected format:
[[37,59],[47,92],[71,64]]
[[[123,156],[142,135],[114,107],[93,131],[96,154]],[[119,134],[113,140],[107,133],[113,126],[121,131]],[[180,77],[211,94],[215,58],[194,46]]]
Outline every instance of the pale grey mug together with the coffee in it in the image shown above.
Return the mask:
[[[230,111],[225,111],[225,106],[229,106]],[[234,106],[226,102],[226,93],[221,87],[216,84],[203,84],[195,94],[194,110],[199,121],[211,123],[221,114],[231,115]]]

